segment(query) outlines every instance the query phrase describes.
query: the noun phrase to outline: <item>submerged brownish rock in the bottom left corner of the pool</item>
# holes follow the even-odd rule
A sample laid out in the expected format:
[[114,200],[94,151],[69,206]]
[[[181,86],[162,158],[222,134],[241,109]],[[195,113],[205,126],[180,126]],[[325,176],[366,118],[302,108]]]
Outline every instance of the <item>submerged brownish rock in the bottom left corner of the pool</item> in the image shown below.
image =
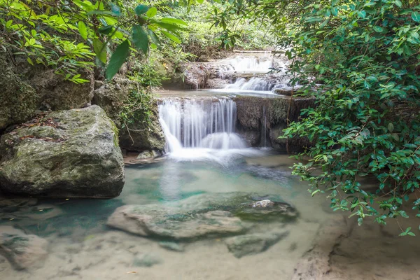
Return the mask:
[[47,256],[47,241],[36,235],[26,235],[22,230],[0,226],[0,254],[15,269],[38,267]]

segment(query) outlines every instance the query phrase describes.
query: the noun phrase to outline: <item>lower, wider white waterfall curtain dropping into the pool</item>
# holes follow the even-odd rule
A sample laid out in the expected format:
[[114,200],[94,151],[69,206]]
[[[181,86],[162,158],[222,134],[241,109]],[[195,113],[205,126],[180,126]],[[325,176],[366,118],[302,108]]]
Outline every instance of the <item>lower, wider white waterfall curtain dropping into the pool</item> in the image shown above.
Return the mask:
[[246,148],[246,141],[235,134],[236,114],[236,104],[231,99],[165,99],[159,105],[159,120],[167,152],[184,148]]

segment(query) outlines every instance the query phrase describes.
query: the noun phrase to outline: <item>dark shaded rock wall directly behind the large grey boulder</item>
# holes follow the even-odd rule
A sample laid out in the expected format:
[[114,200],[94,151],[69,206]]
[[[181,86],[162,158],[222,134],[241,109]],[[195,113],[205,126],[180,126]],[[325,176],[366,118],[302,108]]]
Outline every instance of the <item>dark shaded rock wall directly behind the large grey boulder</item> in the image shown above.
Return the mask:
[[81,108],[93,97],[93,74],[81,73],[87,83],[64,80],[42,65],[31,66],[26,58],[0,51],[0,130],[23,123],[38,109]]

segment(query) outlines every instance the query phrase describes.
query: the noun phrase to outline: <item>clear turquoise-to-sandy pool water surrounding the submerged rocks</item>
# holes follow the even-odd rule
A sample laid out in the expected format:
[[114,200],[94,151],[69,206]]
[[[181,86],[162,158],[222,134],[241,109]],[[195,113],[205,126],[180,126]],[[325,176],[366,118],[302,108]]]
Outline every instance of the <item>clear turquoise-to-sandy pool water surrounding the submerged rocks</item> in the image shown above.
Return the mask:
[[[318,224],[330,214],[323,211],[321,200],[310,199],[304,183],[290,176],[286,155],[254,152],[258,157],[241,156],[228,165],[167,159],[156,165],[127,167],[123,193],[113,200],[38,200],[34,206],[2,213],[1,225],[13,225],[49,242],[43,267],[18,272],[3,260],[0,272],[6,278],[2,279],[125,279],[133,271],[148,279],[248,279],[259,274],[250,266],[255,261],[267,272],[291,275]],[[300,218],[287,225],[258,225],[262,230],[287,228],[290,235],[264,253],[241,259],[228,251],[223,239],[191,242],[185,252],[176,253],[158,246],[158,240],[106,225],[113,211],[125,204],[165,205],[202,193],[230,192],[278,195],[296,207]],[[144,253],[157,255],[162,262],[136,267],[136,256]]]

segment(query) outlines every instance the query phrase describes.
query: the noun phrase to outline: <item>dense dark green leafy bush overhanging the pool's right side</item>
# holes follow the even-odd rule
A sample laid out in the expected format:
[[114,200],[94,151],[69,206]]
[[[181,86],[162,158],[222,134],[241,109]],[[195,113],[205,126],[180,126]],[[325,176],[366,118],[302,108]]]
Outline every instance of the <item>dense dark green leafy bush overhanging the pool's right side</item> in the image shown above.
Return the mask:
[[[415,2],[415,3],[414,3]],[[386,224],[420,211],[420,7],[416,1],[241,1],[226,12],[274,26],[293,59],[293,85],[316,107],[286,137],[313,141],[294,174],[326,193],[334,210]],[[214,15],[219,22],[228,18]],[[318,85],[316,83],[321,83]],[[315,91],[315,92],[314,92]],[[373,177],[368,191],[363,178]],[[420,217],[420,214],[417,214]],[[411,228],[401,235],[414,235]]]

